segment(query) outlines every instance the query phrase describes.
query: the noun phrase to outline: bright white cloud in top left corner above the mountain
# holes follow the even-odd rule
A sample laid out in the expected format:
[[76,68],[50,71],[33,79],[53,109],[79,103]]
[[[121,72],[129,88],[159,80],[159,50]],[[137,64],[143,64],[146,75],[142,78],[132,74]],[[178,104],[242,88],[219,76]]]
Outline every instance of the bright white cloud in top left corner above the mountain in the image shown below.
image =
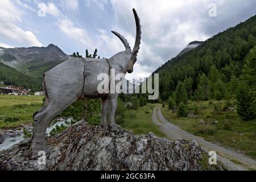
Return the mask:
[[31,31],[24,31],[16,26],[15,23],[21,22],[22,11],[17,9],[13,2],[2,0],[0,7],[0,37],[7,40],[13,40],[22,44],[22,46],[42,46],[42,43]]

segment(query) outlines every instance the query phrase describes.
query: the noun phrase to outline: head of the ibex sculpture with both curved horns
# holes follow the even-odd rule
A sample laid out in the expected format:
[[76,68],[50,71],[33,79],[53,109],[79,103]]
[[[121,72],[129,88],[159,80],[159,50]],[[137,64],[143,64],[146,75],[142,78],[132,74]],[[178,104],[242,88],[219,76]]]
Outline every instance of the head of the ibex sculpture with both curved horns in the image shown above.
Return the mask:
[[135,9],[133,9],[133,14],[134,14],[135,22],[136,22],[136,40],[135,40],[133,51],[131,51],[129,43],[122,35],[118,34],[117,32],[112,31],[113,34],[118,36],[118,38],[122,41],[122,43],[125,45],[126,51],[130,55],[127,60],[128,61],[128,64],[127,64],[127,72],[128,73],[133,73],[133,65],[137,61],[139,45],[141,44],[141,23],[140,23],[139,16],[137,15],[137,12],[135,11]]

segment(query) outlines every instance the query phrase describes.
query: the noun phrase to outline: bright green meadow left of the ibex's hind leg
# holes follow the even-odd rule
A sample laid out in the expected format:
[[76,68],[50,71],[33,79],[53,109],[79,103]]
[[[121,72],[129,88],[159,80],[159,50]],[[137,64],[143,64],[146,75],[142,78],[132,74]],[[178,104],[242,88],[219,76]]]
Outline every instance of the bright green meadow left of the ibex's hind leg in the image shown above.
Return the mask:
[[42,107],[43,96],[0,96],[0,129],[32,123],[32,115]]

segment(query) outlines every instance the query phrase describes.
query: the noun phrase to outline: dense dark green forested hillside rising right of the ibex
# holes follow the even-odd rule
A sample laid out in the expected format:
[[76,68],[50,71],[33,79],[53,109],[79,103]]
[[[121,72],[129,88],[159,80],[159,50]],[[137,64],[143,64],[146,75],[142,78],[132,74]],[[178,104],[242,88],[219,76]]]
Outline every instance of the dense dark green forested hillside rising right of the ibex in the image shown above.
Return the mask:
[[155,73],[159,73],[160,96],[163,101],[170,96],[175,100],[185,90],[183,102],[189,98],[222,100],[234,96],[240,80],[255,91],[255,59],[256,16],[253,16],[158,68]]

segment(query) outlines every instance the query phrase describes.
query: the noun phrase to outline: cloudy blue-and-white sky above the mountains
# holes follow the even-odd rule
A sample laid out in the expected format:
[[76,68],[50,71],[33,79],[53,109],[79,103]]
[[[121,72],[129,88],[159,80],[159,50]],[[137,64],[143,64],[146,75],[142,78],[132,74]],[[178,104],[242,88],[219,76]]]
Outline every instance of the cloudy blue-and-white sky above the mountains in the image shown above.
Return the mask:
[[189,42],[206,40],[256,14],[255,0],[1,0],[0,46],[53,43],[67,54],[97,48],[101,57],[110,57],[124,50],[112,30],[133,47],[133,7],[141,19],[142,44],[127,78],[148,76]]

